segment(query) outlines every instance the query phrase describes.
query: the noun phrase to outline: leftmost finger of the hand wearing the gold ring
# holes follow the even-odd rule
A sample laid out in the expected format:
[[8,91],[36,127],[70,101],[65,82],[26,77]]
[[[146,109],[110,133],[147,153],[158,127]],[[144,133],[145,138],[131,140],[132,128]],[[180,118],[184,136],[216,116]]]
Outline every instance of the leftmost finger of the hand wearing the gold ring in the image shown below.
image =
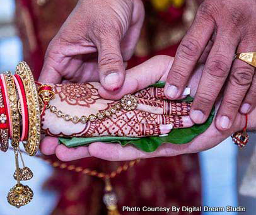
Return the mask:
[[175,60],[168,74],[165,85],[167,98],[177,99],[182,94],[213,30],[214,21],[209,20],[209,18],[206,19],[199,11],[195,16],[194,23],[178,47]]

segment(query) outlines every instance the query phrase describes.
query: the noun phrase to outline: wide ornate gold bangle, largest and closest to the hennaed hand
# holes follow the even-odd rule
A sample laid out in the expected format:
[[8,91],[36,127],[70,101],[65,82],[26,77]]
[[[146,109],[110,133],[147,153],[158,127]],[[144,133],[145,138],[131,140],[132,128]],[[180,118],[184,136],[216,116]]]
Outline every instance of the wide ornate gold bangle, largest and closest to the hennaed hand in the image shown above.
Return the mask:
[[28,103],[28,140],[24,143],[24,147],[26,152],[33,156],[37,153],[40,144],[40,108],[37,87],[30,67],[26,62],[21,61],[18,64],[16,74],[20,75],[23,81]]

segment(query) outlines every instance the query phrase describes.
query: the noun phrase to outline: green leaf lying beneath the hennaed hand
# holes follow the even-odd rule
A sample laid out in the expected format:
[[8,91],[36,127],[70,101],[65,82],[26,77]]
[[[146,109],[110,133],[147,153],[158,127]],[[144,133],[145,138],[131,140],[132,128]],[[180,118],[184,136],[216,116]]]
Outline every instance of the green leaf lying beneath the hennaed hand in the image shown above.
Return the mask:
[[[151,86],[163,88],[165,86],[165,82],[158,82],[156,84],[152,84]],[[187,96],[182,100],[183,102],[192,102],[193,98],[191,96]],[[62,144],[65,144],[67,147],[76,147],[76,146],[84,146],[88,145],[91,142],[119,142],[122,146],[127,146],[128,144],[132,144],[138,149],[141,149],[146,152],[155,151],[158,146],[165,142],[170,142],[172,144],[185,144],[194,137],[202,134],[202,132],[206,131],[206,129],[211,125],[214,117],[214,108],[212,108],[211,114],[204,124],[201,125],[193,125],[192,127],[183,128],[183,129],[173,129],[168,136],[159,137],[159,136],[151,136],[151,137],[73,137],[73,138],[59,138],[59,141]]]

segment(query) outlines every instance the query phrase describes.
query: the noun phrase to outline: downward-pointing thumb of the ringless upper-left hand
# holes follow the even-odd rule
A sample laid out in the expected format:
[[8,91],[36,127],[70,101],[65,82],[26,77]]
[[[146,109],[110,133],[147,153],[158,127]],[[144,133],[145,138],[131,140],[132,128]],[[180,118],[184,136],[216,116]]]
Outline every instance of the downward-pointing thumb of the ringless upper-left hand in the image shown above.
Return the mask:
[[117,91],[124,83],[125,66],[118,40],[102,40],[98,48],[100,83],[107,91]]

